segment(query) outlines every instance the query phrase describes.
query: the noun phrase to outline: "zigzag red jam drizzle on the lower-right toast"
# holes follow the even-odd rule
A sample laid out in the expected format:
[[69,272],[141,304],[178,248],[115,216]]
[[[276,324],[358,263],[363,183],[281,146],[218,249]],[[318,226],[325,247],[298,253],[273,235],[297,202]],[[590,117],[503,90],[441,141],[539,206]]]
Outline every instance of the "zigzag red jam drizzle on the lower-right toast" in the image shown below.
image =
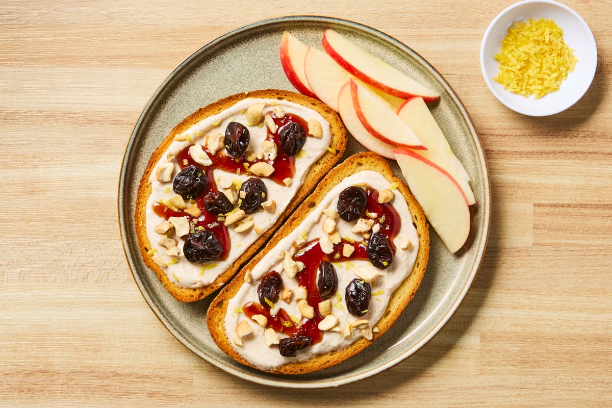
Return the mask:
[[[364,217],[367,217],[367,213],[376,213],[376,223],[379,223],[382,232],[395,253],[395,247],[393,245],[393,239],[397,236],[397,232],[400,230],[400,216],[395,209],[388,203],[380,204],[378,202],[378,191],[366,188],[367,204],[365,206],[366,213]],[[343,255],[344,245],[351,245],[354,249],[350,256]],[[368,256],[365,253],[365,241],[352,242],[346,239],[342,239],[340,243],[334,245],[334,251],[330,254],[326,254],[321,250],[319,240],[312,240],[304,243],[302,248],[296,252],[293,256],[294,261],[300,261],[304,263],[304,269],[297,273],[297,281],[300,286],[304,286],[308,291],[307,302],[315,310],[315,317],[305,321],[302,325],[298,326],[288,315],[284,309],[278,310],[276,316],[271,316],[270,309],[264,308],[257,302],[248,302],[242,306],[245,316],[249,319],[255,314],[263,314],[267,317],[267,326],[274,328],[275,331],[283,333],[288,336],[292,335],[305,335],[312,338],[311,344],[319,343],[323,339],[323,332],[319,330],[318,324],[324,319],[324,316],[319,313],[319,303],[321,298],[319,297],[319,288],[316,283],[319,275],[319,263],[321,261],[329,262],[344,262],[344,261],[362,261],[367,260]],[[340,288],[338,288],[338,291]],[[334,295],[335,297],[335,295]],[[332,297],[332,302],[334,297]]]

